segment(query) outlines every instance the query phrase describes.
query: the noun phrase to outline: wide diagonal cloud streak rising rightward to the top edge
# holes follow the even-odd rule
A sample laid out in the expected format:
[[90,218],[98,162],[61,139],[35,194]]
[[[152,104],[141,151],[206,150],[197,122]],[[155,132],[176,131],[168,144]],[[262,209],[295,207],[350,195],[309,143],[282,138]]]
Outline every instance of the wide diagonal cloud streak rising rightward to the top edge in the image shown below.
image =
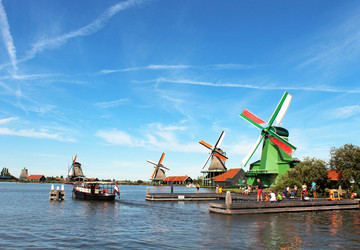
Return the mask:
[[35,57],[36,54],[42,52],[45,49],[52,49],[59,47],[66,42],[68,42],[70,39],[80,36],[88,36],[91,35],[100,29],[102,29],[106,22],[111,19],[114,15],[116,15],[118,12],[128,9],[132,6],[138,5],[144,1],[142,0],[129,0],[126,2],[117,3],[113,6],[111,6],[109,9],[107,9],[101,16],[99,16],[97,19],[95,19],[93,22],[89,23],[88,25],[81,27],[80,29],[71,31],[67,34],[51,38],[51,39],[44,39],[37,43],[35,43],[30,51],[26,54],[24,58],[22,58],[19,61],[26,61],[33,57]]

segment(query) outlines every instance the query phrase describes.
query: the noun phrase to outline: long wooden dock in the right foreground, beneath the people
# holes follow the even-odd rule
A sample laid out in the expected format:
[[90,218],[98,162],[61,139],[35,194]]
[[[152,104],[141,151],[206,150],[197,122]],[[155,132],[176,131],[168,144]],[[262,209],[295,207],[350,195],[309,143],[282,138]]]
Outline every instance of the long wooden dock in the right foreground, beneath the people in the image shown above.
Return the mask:
[[223,202],[210,203],[209,206],[210,212],[220,214],[259,214],[359,209],[359,200],[344,199],[340,201],[328,201],[326,199],[314,199],[309,201],[283,200],[281,202],[240,201],[232,204],[225,204]]

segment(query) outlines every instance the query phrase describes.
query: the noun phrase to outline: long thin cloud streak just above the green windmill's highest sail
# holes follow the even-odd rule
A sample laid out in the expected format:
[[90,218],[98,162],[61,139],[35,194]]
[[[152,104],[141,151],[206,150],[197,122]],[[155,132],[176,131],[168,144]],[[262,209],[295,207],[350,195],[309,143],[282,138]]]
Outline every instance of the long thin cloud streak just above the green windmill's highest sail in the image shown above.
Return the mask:
[[199,85],[207,87],[218,87],[218,88],[246,88],[246,89],[258,89],[258,90],[304,90],[304,91],[316,91],[316,92],[333,92],[333,93],[349,93],[359,94],[360,88],[356,89],[340,89],[329,86],[319,85],[315,87],[307,86],[277,86],[274,84],[266,84],[266,86],[260,86],[256,84],[241,84],[241,83],[213,83],[206,81],[193,81],[188,79],[168,79],[168,78],[157,78],[149,81],[135,81],[138,83],[154,82],[154,83],[173,83],[173,84],[187,84],[187,85]]

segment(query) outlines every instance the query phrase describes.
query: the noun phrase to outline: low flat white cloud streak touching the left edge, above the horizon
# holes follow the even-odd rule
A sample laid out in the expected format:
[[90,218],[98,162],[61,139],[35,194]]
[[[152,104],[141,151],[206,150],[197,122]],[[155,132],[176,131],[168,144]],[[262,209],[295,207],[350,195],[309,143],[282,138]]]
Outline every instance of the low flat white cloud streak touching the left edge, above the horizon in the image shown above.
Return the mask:
[[68,141],[74,142],[73,138],[65,138],[59,133],[50,133],[47,130],[40,130],[35,131],[33,129],[9,129],[9,128],[0,128],[0,135],[14,135],[14,136],[21,136],[21,137],[31,137],[31,138],[39,138],[39,139],[52,139],[57,141]]

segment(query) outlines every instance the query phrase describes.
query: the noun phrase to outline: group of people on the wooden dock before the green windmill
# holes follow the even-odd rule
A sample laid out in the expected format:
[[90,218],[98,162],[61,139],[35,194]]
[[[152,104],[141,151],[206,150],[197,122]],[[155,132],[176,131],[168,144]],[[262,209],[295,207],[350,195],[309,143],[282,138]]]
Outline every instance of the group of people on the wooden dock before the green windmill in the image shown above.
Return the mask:
[[[250,188],[250,186],[249,186]],[[248,189],[244,191],[244,195],[248,194]],[[260,181],[260,179],[257,179],[257,201],[263,201],[263,189],[264,189],[264,183]],[[306,183],[304,183],[301,187],[301,200],[308,200],[308,187]],[[251,191],[251,189],[250,189]],[[311,192],[313,194],[314,199],[317,198],[316,194],[316,183],[313,181],[311,183]],[[280,194],[280,192],[275,195],[275,193],[270,189],[269,195],[265,196],[265,201],[281,201],[282,198],[291,198],[294,199],[297,196],[298,193],[298,187],[295,185],[293,189],[290,189],[289,187],[285,187],[284,192]]]

